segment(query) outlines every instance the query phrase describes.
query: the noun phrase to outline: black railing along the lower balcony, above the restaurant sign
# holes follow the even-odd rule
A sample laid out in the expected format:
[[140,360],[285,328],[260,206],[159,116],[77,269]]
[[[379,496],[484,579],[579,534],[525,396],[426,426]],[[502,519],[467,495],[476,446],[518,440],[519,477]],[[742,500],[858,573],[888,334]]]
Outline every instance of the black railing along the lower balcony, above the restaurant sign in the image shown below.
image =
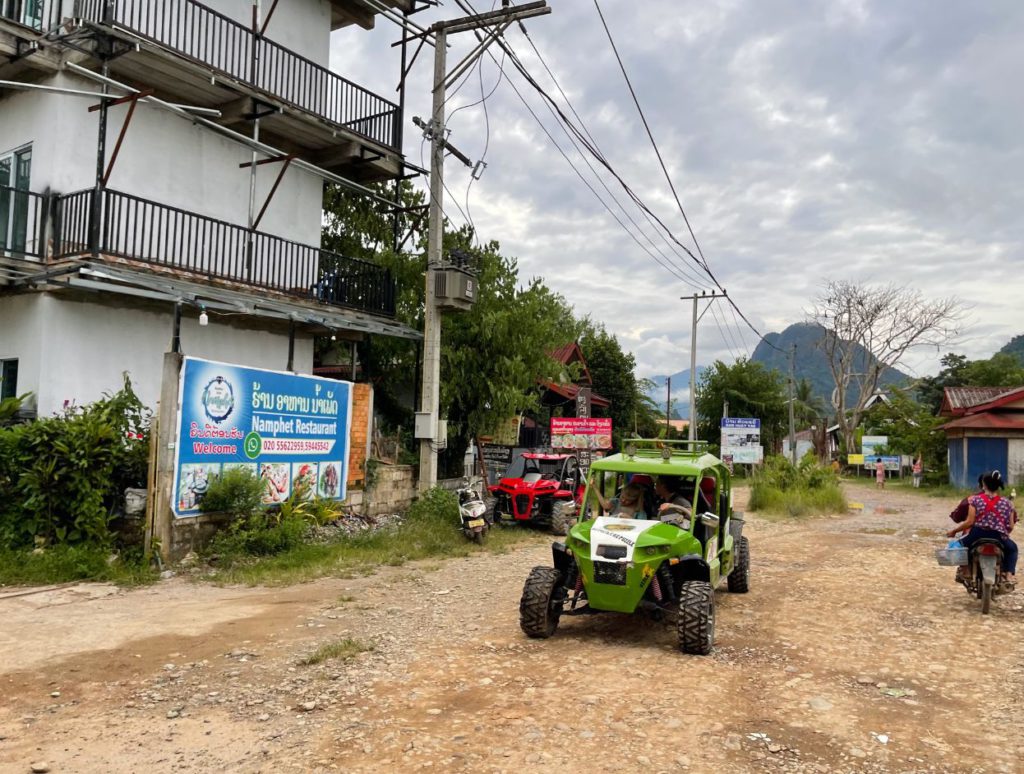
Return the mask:
[[[6,203],[6,205],[5,205]],[[65,196],[0,186],[0,256],[83,256],[393,317],[395,282],[366,261],[110,188]]]

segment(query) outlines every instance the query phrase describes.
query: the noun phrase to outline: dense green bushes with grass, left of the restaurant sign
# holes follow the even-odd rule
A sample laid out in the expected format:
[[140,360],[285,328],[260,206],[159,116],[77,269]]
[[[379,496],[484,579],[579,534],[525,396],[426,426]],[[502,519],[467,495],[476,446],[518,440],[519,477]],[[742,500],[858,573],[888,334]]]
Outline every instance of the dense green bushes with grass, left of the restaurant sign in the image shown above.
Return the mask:
[[[28,397],[4,401],[0,424]],[[145,486],[148,433],[127,377],[89,405],[0,427],[0,585],[156,577],[142,519],[124,515],[125,489]]]

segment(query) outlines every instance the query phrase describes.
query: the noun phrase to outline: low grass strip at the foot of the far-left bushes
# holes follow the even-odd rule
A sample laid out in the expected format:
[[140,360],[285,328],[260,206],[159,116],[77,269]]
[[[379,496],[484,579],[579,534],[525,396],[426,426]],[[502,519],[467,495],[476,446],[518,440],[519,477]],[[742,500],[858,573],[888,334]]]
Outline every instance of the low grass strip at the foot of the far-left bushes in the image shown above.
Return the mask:
[[34,551],[0,550],[0,586],[48,586],[75,580],[100,580],[142,586],[158,577],[141,554],[111,558],[95,546],[54,546]]

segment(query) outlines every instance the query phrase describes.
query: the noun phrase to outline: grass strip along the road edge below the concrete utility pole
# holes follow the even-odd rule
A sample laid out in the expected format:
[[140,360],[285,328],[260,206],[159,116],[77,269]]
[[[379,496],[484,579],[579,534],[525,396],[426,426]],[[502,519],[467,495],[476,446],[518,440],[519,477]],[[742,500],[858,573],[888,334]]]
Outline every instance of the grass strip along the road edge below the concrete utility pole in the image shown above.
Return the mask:
[[[451,501],[429,494],[417,501],[394,530],[354,534],[336,543],[301,544],[266,557],[223,554],[210,579],[225,585],[287,586],[326,576],[355,577],[382,566],[422,559],[465,557],[480,551],[504,553],[539,534],[526,529],[492,529],[486,544],[477,547],[462,533],[455,497],[444,494]],[[417,508],[425,501],[426,505]]]

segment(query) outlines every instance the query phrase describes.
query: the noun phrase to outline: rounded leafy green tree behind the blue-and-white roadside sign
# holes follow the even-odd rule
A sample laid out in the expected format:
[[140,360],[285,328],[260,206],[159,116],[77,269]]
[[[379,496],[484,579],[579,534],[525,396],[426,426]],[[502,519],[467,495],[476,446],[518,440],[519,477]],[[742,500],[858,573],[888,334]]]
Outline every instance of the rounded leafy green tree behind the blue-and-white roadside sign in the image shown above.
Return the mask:
[[761,420],[761,443],[766,450],[778,447],[788,422],[783,384],[777,371],[746,357],[732,365],[716,360],[697,384],[697,437],[719,446],[722,405],[728,400],[730,416]]

